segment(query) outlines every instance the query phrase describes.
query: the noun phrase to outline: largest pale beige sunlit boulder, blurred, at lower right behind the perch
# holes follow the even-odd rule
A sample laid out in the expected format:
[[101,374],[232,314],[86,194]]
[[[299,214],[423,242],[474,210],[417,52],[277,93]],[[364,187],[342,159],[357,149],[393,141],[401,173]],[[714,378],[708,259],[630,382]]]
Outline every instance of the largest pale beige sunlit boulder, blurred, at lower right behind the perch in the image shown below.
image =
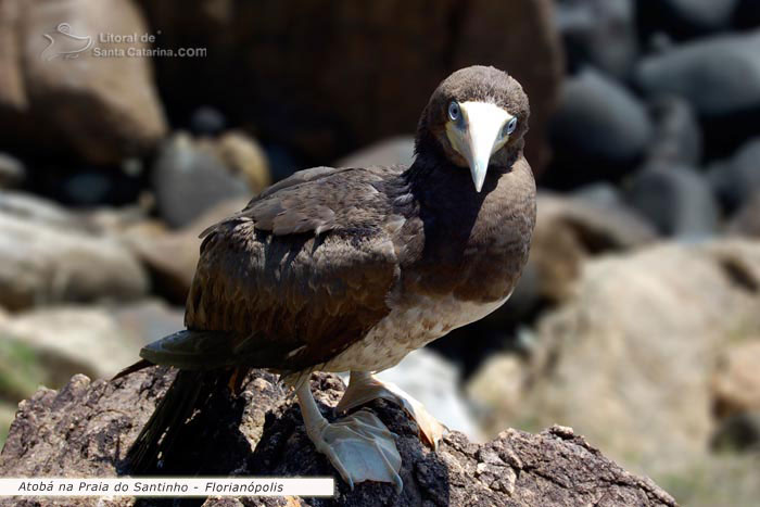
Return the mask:
[[537,322],[518,413],[491,429],[561,421],[655,477],[705,458],[709,379],[721,347],[760,330],[759,282],[757,242],[662,243],[588,261],[573,296]]

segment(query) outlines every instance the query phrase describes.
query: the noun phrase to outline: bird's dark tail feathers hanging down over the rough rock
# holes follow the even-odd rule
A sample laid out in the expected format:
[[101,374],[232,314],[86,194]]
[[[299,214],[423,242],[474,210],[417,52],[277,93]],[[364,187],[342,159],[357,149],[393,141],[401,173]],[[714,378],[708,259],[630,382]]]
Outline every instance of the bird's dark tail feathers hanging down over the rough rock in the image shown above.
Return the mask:
[[[137,367],[140,363],[128,367],[125,370],[126,373],[122,372],[117,377],[131,372],[127,370]],[[179,370],[177,372],[174,382],[127,453],[126,471],[128,473],[140,476],[156,471],[160,459],[165,457],[166,451],[170,448],[185,421],[197,408],[201,408],[210,394],[210,385],[204,382],[204,377],[207,377],[207,373],[202,371]],[[204,396],[201,396],[202,391]]]

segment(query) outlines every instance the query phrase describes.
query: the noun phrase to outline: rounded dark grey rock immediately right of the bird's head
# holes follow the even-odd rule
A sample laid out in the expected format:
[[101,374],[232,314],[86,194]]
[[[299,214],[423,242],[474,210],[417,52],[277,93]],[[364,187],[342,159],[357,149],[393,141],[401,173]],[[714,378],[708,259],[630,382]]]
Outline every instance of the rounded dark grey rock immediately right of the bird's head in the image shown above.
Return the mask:
[[619,179],[653,136],[647,111],[625,88],[592,68],[567,79],[552,123],[556,161],[544,183],[569,187]]

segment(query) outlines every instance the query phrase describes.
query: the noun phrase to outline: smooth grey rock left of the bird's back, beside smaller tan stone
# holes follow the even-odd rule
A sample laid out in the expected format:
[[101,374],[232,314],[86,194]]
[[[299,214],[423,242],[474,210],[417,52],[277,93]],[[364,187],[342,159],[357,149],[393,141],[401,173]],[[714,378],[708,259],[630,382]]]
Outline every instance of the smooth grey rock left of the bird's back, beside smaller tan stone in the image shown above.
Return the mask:
[[161,149],[153,169],[159,214],[170,227],[182,227],[221,201],[250,195],[245,181],[232,175],[213,150],[186,134]]

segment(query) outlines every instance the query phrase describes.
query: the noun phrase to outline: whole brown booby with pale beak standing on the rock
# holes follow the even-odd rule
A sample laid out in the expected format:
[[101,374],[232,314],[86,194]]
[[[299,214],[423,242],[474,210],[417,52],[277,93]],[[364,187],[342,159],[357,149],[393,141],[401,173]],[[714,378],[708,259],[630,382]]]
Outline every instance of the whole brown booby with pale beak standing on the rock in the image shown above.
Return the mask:
[[155,469],[204,396],[266,368],[294,388],[306,433],[352,487],[401,489],[392,433],[366,408],[328,422],[309,375],[351,371],[340,410],[392,400],[438,443],[442,427],[419,402],[371,373],[511,294],[535,224],[528,115],[517,80],[463,68],[422,112],[411,166],[302,170],[206,229],[187,329],[147,345],[123,372],[179,369],[127,455],[131,473]]

